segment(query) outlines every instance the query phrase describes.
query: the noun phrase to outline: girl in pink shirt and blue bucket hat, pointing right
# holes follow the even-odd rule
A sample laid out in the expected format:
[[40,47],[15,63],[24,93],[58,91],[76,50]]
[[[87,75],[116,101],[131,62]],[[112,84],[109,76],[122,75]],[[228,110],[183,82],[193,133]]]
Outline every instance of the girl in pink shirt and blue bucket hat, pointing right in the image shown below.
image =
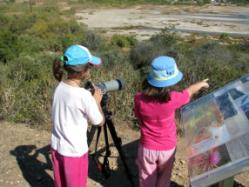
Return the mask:
[[138,169],[140,187],[168,187],[176,148],[175,111],[187,104],[193,94],[208,88],[208,79],[177,92],[169,88],[183,75],[175,60],[159,56],[134,98],[134,112],[140,123]]

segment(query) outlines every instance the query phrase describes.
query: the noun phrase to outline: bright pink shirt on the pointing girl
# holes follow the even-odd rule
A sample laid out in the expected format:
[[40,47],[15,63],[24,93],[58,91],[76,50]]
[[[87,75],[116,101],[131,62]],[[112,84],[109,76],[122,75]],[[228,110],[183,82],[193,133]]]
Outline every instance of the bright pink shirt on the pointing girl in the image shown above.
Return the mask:
[[148,149],[169,150],[176,146],[175,111],[190,101],[188,91],[172,91],[168,102],[151,100],[139,92],[134,99],[135,116],[140,121],[140,143]]

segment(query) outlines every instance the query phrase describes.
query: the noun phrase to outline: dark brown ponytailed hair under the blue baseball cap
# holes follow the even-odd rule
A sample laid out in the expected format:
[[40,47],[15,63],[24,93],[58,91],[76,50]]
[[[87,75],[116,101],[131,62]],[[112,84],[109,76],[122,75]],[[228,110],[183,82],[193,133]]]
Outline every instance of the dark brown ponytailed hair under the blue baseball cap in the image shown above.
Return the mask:
[[53,62],[53,74],[56,80],[61,81],[64,75],[64,70],[66,70],[68,78],[74,79],[74,78],[81,78],[82,73],[85,73],[88,71],[88,69],[92,66],[91,64],[82,64],[82,65],[75,65],[75,66],[69,66],[65,65],[61,62],[59,59],[55,59]]

